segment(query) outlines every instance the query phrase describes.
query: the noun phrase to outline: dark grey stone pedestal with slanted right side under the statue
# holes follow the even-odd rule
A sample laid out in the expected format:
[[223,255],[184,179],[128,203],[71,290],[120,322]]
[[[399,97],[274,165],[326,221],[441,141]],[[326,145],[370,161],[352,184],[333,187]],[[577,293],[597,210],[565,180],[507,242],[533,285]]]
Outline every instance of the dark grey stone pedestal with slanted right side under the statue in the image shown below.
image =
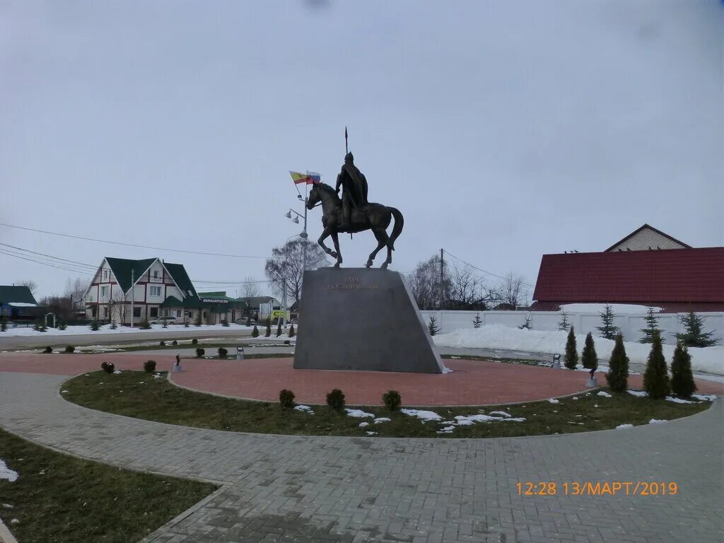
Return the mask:
[[297,369],[442,373],[426,323],[397,271],[306,271],[299,317]]

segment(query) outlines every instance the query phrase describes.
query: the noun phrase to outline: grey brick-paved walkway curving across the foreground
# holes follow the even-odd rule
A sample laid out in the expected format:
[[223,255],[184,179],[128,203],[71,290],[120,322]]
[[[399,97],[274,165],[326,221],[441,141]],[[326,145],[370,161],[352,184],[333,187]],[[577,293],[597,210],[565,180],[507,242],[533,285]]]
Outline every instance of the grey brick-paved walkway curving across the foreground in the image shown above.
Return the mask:
[[[724,537],[720,402],[666,424],[560,437],[294,437],[190,429],[91,411],[59,397],[62,379],[0,373],[0,426],[112,465],[224,484],[203,507],[148,542],[633,543]],[[525,481],[555,481],[559,488],[565,481],[676,481],[679,492],[520,496],[516,484]]]

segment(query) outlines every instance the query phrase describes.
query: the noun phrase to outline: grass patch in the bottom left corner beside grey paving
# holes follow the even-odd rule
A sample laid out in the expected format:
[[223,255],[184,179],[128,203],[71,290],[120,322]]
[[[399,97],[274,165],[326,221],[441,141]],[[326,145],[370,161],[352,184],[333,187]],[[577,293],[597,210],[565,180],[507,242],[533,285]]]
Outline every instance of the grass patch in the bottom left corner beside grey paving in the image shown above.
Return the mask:
[[135,543],[215,488],[80,460],[2,430],[0,458],[18,473],[0,479],[0,517],[21,543]]

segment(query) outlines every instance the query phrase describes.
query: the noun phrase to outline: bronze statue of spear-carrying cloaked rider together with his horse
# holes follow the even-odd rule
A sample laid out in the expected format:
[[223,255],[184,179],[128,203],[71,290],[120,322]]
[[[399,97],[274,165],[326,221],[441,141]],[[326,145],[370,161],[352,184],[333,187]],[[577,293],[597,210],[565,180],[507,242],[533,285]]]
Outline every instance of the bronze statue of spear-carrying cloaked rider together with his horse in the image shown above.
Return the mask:
[[[345,143],[346,139],[347,130],[345,129]],[[340,188],[342,189],[341,199],[339,197]],[[342,264],[340,232],[352,234],[353,232],[372,230],[374,237],[377,238],[377,248],[370,253],[365,267],[369,268],[377,253],[383,247],[387,247],[387,260],[380,266],[387,269],[387,265],[392,262],[395,240],[403,231],[403,214],[394,207],[367,201],[367,180],[355,166],[352,153],[348,152],[345,156],[345,164],[342,165],[342,171],[337,175],[335,188],[322,182],[313,184],[307,200],[307,209],[312,209],[320,202],[322,209],[321,224],[324,227],[324,232],[321,233],[317,242],[329,256],[337,259],[334,267],[339,268],[340,264]],[[388,236],[387,227],[390,226],[393,217],[395,218],[395,224],[392,227],[392,235]],[[324,245],[324,240],[329,236],[332,236],[334,251]]]

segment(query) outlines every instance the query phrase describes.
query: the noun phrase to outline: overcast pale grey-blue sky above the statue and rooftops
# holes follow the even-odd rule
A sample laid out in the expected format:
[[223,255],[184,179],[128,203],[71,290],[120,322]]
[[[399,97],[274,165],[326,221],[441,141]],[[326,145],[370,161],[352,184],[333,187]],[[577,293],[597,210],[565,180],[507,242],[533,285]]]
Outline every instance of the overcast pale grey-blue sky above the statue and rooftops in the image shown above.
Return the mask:
[[[300,232],[288,170],[334,184],[347,125],[370,201],[405,215],[398,271],[444,247],[534,283],[542,254],[644,222],[723,245],[723,35],[717,0],[0,0],[0,222],[267,256]],[[0,243],[264,279],[263,258]],[[340,243],[348,266],[376,245]],[[0,284],[68,277],[0,254]]]

